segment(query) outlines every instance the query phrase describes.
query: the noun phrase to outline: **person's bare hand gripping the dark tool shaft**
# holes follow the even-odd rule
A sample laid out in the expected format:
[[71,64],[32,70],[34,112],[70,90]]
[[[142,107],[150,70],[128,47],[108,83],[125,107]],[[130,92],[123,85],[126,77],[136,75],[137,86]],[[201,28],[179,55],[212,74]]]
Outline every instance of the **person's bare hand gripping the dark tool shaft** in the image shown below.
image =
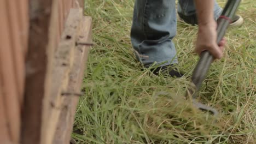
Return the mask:
[[217,45],[217,23],[216,21],[211,21],[203,25],[199,25],[199,32],[196,40],[196,53],[199,55],[202,51],[208,50],[214,58],[222,58],[224,45],[226,40],[222,39]]

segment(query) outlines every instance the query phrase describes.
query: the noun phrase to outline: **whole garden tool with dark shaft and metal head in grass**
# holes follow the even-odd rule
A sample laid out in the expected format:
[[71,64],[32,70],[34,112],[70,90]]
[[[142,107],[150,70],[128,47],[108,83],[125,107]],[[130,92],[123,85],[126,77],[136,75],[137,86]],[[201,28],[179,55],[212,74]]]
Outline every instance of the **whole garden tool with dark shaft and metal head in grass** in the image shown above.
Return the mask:
[[[217,23],[217,44],[220,40],[223,39],[226,29],[228,28],[229,24],[232,22],[232,17],[235,15],[238,6],[240,5],[241,0],[228,0],[226,3],[222,15],[219,16]],[[213,62],[214,57],[211,55],[209,51],[203,51],[201,53],[199,62],[197,63],[192,76],[191,86],[188,88],[186,93],[187,97],[191,97],[193,99],[193,104],[197,109],[203,111],[209,111],[214,116],[218,115],[218,111],[213,107],[206,106],[200,102],[196,101],[197,94],[200,90],[201,84],[203,79],[205,79],[208,69]]]

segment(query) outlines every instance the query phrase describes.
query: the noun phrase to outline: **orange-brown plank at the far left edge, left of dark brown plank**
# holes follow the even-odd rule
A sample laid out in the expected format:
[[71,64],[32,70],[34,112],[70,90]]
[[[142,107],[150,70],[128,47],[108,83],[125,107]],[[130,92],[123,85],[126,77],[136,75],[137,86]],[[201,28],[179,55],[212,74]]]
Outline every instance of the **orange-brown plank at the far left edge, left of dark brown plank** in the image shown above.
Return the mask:
[[[10,141],[19,142],[20,89],[17,85],[18,79],[15,71],[15,67],[19,63],[16,63],[17,61],[15,61],[14,58],[14,53],[19,51],[16,51],[14,47],[16,45],[13,45],[13,43],[17,43],[16,39],[11,37],[16,31],[14,32],[12,30],[13,25],[10,25],[10,19],[15,19],[15,17],[11,17],[10,9],[11,7],[7,1],[0,1],[0,17],[2,19],[0,27],[0,81],[2,94],[0,95],[0,100],[2,100],[1,103],[3,104],[5,110],[5,116],[1,117],[5,120],[2,121],[3,125],[1,125],[5,125],[5,127],[8,129]],[[22,53],[20,54],[22,55]],[[4,130],[4,128],[1,128],[0,130]]]

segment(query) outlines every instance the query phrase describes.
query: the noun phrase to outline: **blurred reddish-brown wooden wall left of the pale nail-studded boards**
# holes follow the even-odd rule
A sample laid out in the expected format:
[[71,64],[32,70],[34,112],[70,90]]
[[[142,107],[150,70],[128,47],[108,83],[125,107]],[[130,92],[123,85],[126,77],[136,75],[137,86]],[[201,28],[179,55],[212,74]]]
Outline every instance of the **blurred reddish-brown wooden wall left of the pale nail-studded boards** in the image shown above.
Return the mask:
[[69,10],[83,4],[0,1],[0,143],[40,142],[46,73],[52,69]]

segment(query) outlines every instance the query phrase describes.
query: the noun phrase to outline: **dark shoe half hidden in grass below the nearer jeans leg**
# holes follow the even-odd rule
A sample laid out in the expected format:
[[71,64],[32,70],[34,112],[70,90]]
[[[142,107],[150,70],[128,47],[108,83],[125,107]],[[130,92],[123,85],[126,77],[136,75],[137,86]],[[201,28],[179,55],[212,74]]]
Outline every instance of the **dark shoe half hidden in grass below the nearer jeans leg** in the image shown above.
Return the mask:
[[159,75],[164,74],[165,76],[171,76],[171,77],[182,77],[184,74],[178,71],[177,68],[174,68],[174,65],[165,65],[162,67],[158,67],[155,69],[151,69],[153,74]]

